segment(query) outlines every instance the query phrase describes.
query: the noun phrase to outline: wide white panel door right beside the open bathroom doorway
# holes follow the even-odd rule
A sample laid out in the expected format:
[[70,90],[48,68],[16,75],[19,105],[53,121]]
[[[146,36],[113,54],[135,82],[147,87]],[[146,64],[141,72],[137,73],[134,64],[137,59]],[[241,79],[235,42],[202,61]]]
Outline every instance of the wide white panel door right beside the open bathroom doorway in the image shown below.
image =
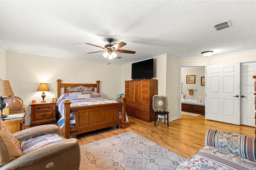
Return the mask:
[[240,64],[206,67],[206,119],[240,125]]

